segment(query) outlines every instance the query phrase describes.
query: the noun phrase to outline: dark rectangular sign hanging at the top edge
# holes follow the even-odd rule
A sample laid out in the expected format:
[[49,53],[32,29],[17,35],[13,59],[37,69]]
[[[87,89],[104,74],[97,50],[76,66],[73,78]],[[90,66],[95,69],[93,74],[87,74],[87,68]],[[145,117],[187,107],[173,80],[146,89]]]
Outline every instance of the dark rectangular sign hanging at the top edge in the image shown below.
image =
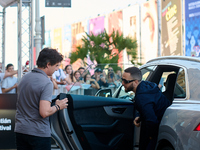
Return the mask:
[[45,0],[45,7],[71,7],[71,0]]

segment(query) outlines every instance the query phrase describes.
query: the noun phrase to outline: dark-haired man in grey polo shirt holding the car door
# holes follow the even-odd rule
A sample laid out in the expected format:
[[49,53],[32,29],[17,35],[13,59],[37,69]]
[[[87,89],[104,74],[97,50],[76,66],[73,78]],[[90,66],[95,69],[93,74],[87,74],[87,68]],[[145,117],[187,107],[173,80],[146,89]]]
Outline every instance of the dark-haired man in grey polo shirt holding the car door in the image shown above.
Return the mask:
[[49,116],[67,108],[68,99],[56,100],[51,106],[53,83],[48,76],[58,70],[62,60],[55,49],[44,48],[37,68],[22,77],[15,116],[17,150],[51,150]]

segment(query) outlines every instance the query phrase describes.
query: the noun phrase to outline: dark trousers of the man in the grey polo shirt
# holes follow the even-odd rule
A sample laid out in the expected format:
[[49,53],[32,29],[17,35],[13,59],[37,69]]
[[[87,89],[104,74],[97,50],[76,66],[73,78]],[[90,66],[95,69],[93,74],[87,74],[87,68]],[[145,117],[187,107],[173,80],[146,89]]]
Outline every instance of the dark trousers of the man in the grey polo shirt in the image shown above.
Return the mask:
[[51,150],[51,137],[16,133],[17,150]]

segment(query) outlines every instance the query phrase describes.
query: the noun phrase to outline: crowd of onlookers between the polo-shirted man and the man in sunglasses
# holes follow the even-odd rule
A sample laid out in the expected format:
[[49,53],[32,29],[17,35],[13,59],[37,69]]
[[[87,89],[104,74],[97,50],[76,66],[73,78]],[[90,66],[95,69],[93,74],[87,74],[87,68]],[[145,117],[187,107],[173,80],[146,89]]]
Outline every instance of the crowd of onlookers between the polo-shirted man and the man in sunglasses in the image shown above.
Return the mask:
[[72,65],[65,66],[64,69],[58,69],[51,77],[54,83],[54,89],[57,89],[57,85],[78,85],[89,84],[90,88],[100,89],[102,87],[118,87],[121,83],[121,71],[116,72],[112,67],[102,70],[101,68],[95,68],[94,74],[80,67],[78,70],[73,70]]

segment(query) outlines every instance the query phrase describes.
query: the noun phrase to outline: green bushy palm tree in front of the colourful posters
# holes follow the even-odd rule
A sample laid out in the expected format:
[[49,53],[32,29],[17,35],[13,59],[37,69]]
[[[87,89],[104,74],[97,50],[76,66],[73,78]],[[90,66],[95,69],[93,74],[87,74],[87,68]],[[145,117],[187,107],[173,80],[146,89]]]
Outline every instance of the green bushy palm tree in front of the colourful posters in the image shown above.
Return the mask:
[[[82,59],[89,55],[92,61],[96,60],[97,64],[118,63],[118,54],[126,48],[128,55],[132,56],[132,63],[136,58],[137,41],[130,37],[123,37],[118,31],[113,31],[108,35],[106,30],[98,35],[86,33],[82,38],[83,45],[77,46],[77,50],[72,52],[70,59],[74,63],[77,59]],[[118,51],[114,50],[117,49]],[[104,66],[99,66],[103,68]]]

